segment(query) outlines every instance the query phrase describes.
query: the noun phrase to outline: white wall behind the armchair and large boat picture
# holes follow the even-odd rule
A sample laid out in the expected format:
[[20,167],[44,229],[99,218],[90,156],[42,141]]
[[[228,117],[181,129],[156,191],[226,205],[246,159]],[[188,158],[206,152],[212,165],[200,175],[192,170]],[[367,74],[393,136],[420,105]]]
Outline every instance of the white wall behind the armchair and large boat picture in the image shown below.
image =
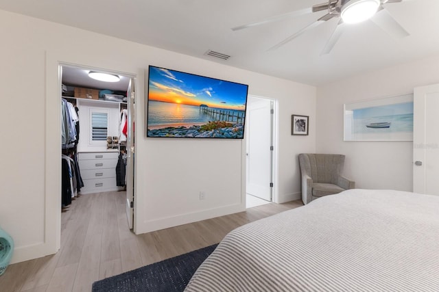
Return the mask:
[[412,191],[412,142],[343,142],[343,105],[412,93],[439,82],[439,57],[385,68],[318,88],[318,152],[346,155],[344,174],[365,189]]

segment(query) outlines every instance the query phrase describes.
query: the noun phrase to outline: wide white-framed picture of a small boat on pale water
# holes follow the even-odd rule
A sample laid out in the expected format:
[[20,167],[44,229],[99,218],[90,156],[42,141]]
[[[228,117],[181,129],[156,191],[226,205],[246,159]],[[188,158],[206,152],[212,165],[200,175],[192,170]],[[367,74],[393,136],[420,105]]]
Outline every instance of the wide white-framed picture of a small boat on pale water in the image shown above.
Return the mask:
[[344,141],[413,141],[413,94],[346,103]]

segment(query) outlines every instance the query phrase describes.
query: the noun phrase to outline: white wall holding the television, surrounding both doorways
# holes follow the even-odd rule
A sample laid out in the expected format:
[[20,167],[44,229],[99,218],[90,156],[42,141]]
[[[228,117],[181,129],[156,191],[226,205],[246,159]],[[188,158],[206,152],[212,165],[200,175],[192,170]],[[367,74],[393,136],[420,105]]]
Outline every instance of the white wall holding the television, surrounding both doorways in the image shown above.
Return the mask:
[[[150,64],[246,83],[249,94],[278,99],[278,200],[298,194],[297,154],[315,150],[316,88],[3,11],[0,35],[0,225],[16,243],[12,262],[59,247],[60,62],[137,76],[137,233],[245,208],[243,141],[145,138]],[[310,116],[308,137],[290,135],[291,114]]]

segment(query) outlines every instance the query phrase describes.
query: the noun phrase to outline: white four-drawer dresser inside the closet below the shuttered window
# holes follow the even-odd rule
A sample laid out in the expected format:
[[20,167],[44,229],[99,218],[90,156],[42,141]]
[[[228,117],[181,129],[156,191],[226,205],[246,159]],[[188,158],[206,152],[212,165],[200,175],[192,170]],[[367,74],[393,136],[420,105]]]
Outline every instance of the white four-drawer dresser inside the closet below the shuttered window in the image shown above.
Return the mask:
[[116,165],[118,152],[78,152],[78,163],[84,187],[80,194],[117,191]]

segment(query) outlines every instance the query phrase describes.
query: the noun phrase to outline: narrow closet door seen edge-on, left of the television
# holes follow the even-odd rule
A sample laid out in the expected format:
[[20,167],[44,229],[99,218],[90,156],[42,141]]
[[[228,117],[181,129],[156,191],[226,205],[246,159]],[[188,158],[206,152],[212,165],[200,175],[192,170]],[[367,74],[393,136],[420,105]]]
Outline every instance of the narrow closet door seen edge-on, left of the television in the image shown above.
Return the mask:
[[128,129],[126,137],[126,217],[128,226],[133,228],[134,222],[134,79],[128,86]]

